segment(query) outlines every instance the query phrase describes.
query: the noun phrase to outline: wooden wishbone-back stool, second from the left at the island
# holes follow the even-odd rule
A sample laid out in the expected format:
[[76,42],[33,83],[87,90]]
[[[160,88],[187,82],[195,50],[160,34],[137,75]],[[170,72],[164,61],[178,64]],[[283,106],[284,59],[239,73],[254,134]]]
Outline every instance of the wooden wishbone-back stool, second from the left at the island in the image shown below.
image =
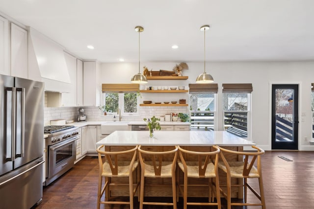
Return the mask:
[[[141,148],[141,145],[138,146],[138,156],[141,164],[141,186],[140,186],[140,205],[139,208],[143,209],[143,205],[161,205],[161,206],[173,206],[174,209],[177,209],[177,197],[176,197],[176,163],[178,156],[178,146],[170,151],[147,151]],[[151,161],[145,161],[142,157],[142,154],[145,154],[150,157]],[[163,156],[168,154],[174,154],[172,162],[164,161]],[[165,172],[165,164],[171,164],[171,173],[170,175]],[[152,166],[153,165],[153,166]],[[154,171],[149,170],[148,168],[154,167]],[[167,170],[168,171],[168,170]],[[172,200],[173,203],[165,202],[144,202],[144,179],[146,178],[171,178],[172,184]]]

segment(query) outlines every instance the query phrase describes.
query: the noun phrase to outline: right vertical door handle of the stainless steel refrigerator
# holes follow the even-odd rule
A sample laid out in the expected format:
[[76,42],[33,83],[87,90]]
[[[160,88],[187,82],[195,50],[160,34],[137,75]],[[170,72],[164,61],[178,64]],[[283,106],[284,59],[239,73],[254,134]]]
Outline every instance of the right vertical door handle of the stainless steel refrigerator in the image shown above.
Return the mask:
[[24,157],[25,147],[25,88],[16,88],[15,156]]

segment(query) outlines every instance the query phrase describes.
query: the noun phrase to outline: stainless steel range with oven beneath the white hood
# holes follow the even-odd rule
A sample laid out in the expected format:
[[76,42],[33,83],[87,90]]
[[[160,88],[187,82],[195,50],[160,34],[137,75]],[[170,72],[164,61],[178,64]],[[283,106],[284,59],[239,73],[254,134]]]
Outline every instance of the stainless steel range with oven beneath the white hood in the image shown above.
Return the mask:
[[75,126],[45,126],[46,140],[46,182],[52,183],[73,167],[76,160],[76,140],[80,138],[79,128]]

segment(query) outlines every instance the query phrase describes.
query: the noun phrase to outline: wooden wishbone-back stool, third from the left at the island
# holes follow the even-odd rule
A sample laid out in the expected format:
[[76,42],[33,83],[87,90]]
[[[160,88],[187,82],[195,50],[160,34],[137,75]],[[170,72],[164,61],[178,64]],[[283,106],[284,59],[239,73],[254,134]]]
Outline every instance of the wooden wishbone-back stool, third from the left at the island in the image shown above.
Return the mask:
[[[218,159],[220,149],[217,146],[212,146],[215,150],[210,152],[196,152],[183,149],[178,146],[180,160],[178,160],[178,166],[183,171],[183,190],[179,184],[179,178],[177,178],[179,190],[183,193],[183,209],[187,209],[188,205],[194,206],[217,206],[218,209],[221,209],[220,201],[220,187],[219,187],[219,177],[218,177]],[[187,158],[195,157],[198,161],[187,160]],[[214,159],[213,159],[214,157]],[[207,170],[213,168],[213,170]],[[178,169],[179,170],[179,169]],[[197,171],[198,170],[198,173]],[[193,172],[194,171],[194,172]],[[179,176],[179,175],[178,175]],[[187,187],[188,187],[188,178],[208,178],[209,179],[209,202],[187,202]],[[213,182],[212,179],[215,179]],[[195,185],[191,185],[195,186]],[[214,195],[217,202],[214,203]]]

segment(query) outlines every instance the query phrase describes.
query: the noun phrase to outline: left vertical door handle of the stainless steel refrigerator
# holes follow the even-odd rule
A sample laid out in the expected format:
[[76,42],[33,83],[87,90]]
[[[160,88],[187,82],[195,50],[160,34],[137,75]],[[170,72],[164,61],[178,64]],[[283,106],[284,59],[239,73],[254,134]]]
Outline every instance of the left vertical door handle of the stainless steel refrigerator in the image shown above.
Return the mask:
[[6,132],[6,151],[5,158],[7,161],[15,160],[15,94],[16,88],[9,87],[5,89],[5,123]]

